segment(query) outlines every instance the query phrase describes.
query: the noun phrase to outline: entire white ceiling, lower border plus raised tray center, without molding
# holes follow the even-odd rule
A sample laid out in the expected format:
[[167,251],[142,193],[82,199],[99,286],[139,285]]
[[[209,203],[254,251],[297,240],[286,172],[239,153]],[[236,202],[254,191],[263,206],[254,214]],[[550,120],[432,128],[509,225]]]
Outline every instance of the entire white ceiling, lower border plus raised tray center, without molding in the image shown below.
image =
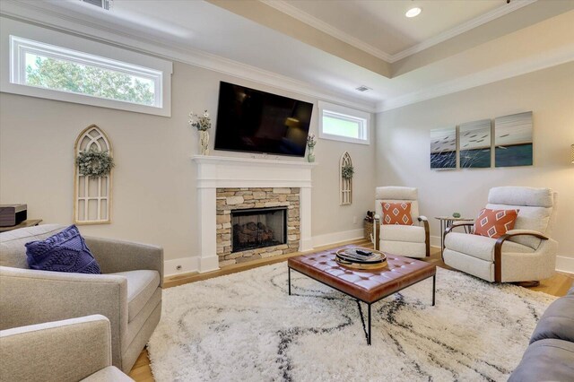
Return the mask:
[[[565,1],[574,8],[574,0]],[[285,9],[285,2],[273,2],[274,7]],[[423,8],[422,18],[413,23],[404,17],[410,4]],[[480,19],[505,4],[505,0],[309,0],[287,2],[286,12],[293,13],[296,7],[299,16],[304,11],[320,17],[321,22],[330,23],[328,28],[344,30],[352,39],[373,47],[377,44],[392,55],[446,32],[452,34],[453,25],[468,28],[477,20],[475,16]],[[325,12],[319,13],[320,7]],[[310,92],[303,89],[318,89],[317,94],[352,100],[363,109],[389,109],[574,60],[574,11],[510,30],[498,39],[431,60],[394,78],[204,1],[115,0],[107,12],[79,0],[2,0],[0,11],[192,64],[199,62],[194,57],[201,56],[199,65],[213,70],[239,71],[249,80],[305,94]],[[430,21],[431,17],[435,19]],[[355,91],[360,85],[372,91]]]

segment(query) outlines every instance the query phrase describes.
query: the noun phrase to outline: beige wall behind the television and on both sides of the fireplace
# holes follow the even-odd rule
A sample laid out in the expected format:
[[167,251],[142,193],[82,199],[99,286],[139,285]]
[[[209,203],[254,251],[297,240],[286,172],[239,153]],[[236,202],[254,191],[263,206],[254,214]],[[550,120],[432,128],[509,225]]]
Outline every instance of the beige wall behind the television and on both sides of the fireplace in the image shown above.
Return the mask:
[[[190,156],[199,152],[198,134],[187,125],[187,114],[208,109],[215,116],[220,81],[313,102],[311,130],[317,135],[316,99],[181,63],[174,64],[172,117],[0,93],[0,204],[26,203],[30,218],[71,223],[74,140],[83,128],[96,124],[109,135],[117,163],[113,222],[81,226],[82,232],[158,244],[166,260],[196,256],[196,165]],[[211,144],[213,148],[213,140]],[[340,206],[338,199],[338,163],[344,150],[351,152],[356,169],[351,206]],[[374,197],[374,155],[374,144],[318,141],[312,191],[317,244],[361,236],[362,218]],[[189,271],[189,264],[184,262],[183,271]]]

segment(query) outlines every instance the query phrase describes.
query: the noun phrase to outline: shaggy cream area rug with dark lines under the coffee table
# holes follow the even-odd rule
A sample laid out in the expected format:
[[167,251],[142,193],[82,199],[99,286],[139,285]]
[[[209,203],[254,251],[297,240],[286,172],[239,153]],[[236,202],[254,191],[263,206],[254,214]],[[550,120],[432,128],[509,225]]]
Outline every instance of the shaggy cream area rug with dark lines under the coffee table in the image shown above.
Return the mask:
[[149,343],[157,381],[506,380],[555,298],[437,269],[366,306],[287,264],[163,291]]

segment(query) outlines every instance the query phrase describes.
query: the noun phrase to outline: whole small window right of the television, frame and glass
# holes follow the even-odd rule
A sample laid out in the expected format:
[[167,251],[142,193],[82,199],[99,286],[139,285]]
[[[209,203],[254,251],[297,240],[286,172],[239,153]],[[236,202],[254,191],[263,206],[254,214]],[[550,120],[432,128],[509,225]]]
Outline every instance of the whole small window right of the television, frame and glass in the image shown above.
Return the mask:
[[370,114],[319,101],[319,137],[369,144]]

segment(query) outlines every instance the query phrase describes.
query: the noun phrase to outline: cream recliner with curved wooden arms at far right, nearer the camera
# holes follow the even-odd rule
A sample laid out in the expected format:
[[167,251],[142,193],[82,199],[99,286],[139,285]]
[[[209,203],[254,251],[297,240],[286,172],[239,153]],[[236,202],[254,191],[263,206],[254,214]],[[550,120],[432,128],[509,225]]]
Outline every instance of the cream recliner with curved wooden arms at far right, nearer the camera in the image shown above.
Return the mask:
[[539,282],[554,273],[558,243],[551,238],[556,216],[556,193],[549,188],[494,187],[486,208],[519,210],[513,230],[499,239],[456,232],[459,222],[445,231],[444,262],[488,282]]

